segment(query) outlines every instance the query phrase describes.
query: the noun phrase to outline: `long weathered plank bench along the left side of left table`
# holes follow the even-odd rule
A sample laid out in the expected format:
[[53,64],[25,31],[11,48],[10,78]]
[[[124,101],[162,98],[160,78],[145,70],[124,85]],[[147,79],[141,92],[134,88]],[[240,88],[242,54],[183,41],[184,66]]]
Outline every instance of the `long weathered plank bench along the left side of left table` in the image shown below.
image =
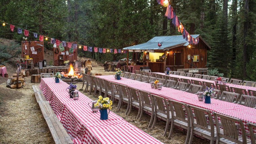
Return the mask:
[[73,144],[72,139],[64,129],[58,117],[55,115],[50,103],[45,99],[40,88],[36,85],[32,85],[32,88],[36,101],[52,134],[54,142],[56,144]]

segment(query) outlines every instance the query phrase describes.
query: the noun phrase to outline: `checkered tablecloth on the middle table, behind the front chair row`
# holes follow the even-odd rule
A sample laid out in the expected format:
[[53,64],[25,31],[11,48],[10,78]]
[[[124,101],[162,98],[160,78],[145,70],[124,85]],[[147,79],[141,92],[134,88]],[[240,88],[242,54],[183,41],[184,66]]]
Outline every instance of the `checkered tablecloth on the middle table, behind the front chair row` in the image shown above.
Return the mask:
[[[216,99],[211,99],[211,104],[205,104],[204,102],[198,101],[197,95],[179,91],[177,89],[162,87],[162,90],[159,91],[157,89],[152,89],[150,83],[140,82],[140,81],[127,79],[127,78],[116,80],[112,75],[97,76],[97,77],[100,77],[112,82],[124,84],[129,87],[137,88],[142,91],[146,91],[151,94],[163,97],[167,100],[175,100],[175,101],[183,102],[189,105],[210,110],[211,112],[218,112],[224,115],[242,119],[246,132],[249,132],[248,127],[246,125],[247,122],[256,124],[256,116],[255,116],[256,109],[253,109],[250,107],[229,103],[225,101],[220,101]],[[137,83],[137,84],[134,84],[134,83]],[[254,132],[256,133],[256,130]],[[241,133],[241,130],[240,130],[240,133]]]

